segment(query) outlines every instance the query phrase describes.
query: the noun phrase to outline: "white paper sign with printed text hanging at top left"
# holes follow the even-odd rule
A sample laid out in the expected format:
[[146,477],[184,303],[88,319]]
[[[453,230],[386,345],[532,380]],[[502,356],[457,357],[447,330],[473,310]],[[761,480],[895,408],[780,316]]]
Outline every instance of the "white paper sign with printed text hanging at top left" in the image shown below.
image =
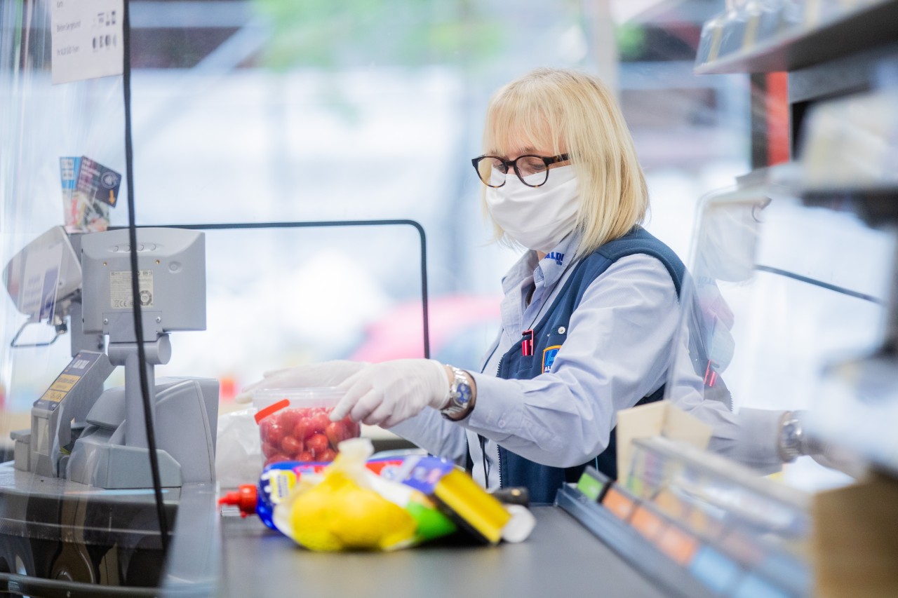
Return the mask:
[[121,75],[122,0],[50,0],[53,84]]

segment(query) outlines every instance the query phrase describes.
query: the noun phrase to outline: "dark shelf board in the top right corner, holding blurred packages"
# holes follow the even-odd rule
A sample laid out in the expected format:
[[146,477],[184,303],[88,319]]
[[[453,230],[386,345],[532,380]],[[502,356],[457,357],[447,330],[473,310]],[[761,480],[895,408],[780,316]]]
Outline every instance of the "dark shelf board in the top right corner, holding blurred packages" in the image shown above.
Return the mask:
[[859,7],[805,30],[764,40],[747,52],[738,52],[696,66],[696,75],[724,73],[776,73],[794,71],[859,50],[898,41],[898,1],[885,0]]

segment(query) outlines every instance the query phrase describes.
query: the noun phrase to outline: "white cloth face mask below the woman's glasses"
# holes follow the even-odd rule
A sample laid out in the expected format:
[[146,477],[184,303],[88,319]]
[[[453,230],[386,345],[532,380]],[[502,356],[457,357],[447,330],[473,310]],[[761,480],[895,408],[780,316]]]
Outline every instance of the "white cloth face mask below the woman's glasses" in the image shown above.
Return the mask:
[[[537,173],[525,179],[535,182],[542,176]],[[547,253],[574,230],[580,207],[574,167],[551,169],[541,187],[527,187],[514,171],[508,171],[505,185],[487,188],[487,207],[509,237],[527,249]]]

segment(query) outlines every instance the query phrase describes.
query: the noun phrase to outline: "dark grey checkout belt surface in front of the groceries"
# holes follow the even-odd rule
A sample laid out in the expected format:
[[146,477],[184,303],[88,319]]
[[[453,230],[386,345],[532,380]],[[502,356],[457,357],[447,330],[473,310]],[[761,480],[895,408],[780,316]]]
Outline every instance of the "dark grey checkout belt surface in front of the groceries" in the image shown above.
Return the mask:
[[533,507],[521,544],[420,546],[389,553],[315,553],[255,517],[222,521],[219,595],[327,598],[663,596],[570,515]]

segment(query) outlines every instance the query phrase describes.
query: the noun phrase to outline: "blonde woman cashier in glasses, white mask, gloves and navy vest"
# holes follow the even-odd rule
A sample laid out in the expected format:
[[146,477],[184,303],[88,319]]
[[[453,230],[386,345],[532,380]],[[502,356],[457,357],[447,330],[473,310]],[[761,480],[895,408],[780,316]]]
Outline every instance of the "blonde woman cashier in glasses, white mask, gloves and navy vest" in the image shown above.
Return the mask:
[[[339,385],[334,420],[389,427],[467,462],[486,488],[526,486],[550,503],[586,464],[616,477],[616,412],[661,399],[684,268],[639,225],[646,181],[594,76],[541,68],[506,84],[489,102],[483,148],[472,163],[486,210],[497,235],[527,251],[502,279],[502,328],[480,372],[338,361],[247,391]],[[704,402],[733,426],[721,403]]]

